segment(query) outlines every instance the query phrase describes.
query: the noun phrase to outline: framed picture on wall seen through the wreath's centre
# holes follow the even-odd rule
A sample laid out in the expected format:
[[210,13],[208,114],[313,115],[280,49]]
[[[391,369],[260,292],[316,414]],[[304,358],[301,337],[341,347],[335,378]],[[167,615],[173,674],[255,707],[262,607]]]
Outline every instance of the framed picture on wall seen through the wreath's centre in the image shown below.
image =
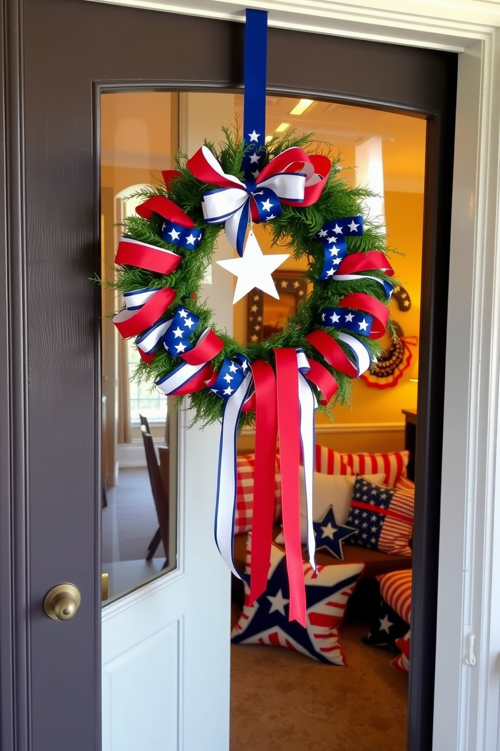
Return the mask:
[[280,299],[259,289],[248,294],[247,340],[262,342],[282,330],[290,315],[295,315],[300,300],[307,295],[307,279],[295,271],[272,274]]

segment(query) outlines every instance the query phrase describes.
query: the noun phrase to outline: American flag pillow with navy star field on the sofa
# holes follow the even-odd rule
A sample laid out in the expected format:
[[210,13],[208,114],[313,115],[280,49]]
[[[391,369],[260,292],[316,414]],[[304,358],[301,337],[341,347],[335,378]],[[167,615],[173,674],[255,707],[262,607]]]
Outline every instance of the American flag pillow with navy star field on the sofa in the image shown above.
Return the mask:
[[356,532],[346,540],[382,553],[410,556],[414,496],[406,490],[376,485],[358,476],[352,494],[347,526]]

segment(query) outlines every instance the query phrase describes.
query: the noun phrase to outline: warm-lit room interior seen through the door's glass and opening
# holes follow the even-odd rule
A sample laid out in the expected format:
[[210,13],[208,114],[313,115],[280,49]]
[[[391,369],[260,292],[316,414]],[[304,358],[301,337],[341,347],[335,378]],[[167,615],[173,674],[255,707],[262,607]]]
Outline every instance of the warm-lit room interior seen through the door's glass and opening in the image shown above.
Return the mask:
[[[243,98],[225,96],[232,99],[235,128],[239,128]],[[112,314],[122,306],[112,282],[121,222],[143,201],[144,186],[162,182],[162,170],[175,167],[179,99],[175,92],[101,95],[101,273],[109,282],[102,292],[106,313],[102,321],[104,603],[172,571],[176,563],[175,400],[137,382],[138,350],[133,341],[118,336],[112,323]],[[281,610],[284,615],[288,600],[282,590],[280,599],[276,592],[265,593],[260,602],[261,630],[250,633],[255,606],[250,606],[243,583],[232,578],[231,749],[295,751],[319,746],[332,751],[402,751],[410,667],[426,123],[368,107],[268,96],[266,137],[286,131],[313,133],[319,148],[338,158],[339,179],[373,193],[364,203],[363,216],[387,234],[397,280],[391,298],[397,336],[385,335],[378,362],[352,382],[351,406],[335,407],[334,421],[321,412],[316,415],[313,519],[327,520],[332,508],[334,527],[343,525],[346,530],[340,542],[335,538],[336,552],[322,547],[317,562],[337,577],[335,581],[343,581],[343,575],[339,579],[343,567],[355,577],[343,588],[346,594],[338,604],[329,658],[325,659],[317,635],[310,637],[307,647],[292,636],[278,635],[273,641],[262,620],[264,605],[271,602],[268,610]],[[263,252],[281,252],[271,247],[265,225],[256,225],[254,231]],[[305,259],[289,258],[273,275],[280,300],[250,293],[236,303],[234,336],[241,342],[256,341],[279,331],[307,294],[306,270]],[[209,284],[210,268],[206,275]],[[241,572],[250,544],[254,449],[255,433],[245,428],[238,437],[234,547]],[[379,531],[373,544],[361,544],[359,535],[356,538],[352,525],[358,507],[352,503],[357,493],[362,499],[367,490],[376,498],[389,490],[391,499],[400,504],[393,507],[399,514],[397,529],[389,531],[384,522],[385,537],[390,538],[385,544]],[[278,457],[275,494],[277,569],[280,555],[283,558]],[[359,510],[366,513],[362,506]]]

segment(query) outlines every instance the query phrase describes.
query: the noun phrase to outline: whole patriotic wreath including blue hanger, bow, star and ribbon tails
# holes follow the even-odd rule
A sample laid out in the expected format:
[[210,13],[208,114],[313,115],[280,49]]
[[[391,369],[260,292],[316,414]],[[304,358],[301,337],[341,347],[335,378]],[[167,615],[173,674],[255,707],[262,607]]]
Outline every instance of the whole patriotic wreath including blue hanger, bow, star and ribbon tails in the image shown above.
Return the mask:
[[[265,143],[267,13],[247,10],[244,137],[224,130],[164,185],[142,192],[138,216],[124,221],[115,288],[125,306],[114,321],[134,337],[139,378],[163,393],[189,395],[194,421],[221,420],[215,540],[233,574],[236,436],[256,425],[250,602],[264,591],[271,556],[274,475],[279,445],[283,535],[289,572],[289,619],[306,625],[299,463],[304,464],[307,550],[315,563],[313,454],[316,409],[349,397],[350,379],[379,354],[388,324],[393,274],[382,231],[361,216],[369,192],[349,188],[340,158],[310,152],[312,137]],[[274,245],[307,257],[311,291],[279,333],[237,342],[211,323],[200,285],[221,231],[238,253],[218,263],[238,277],[235,300],[257,287],[279,297],[271,272],[284,254],[264,255],[253,234],[262,222]]]

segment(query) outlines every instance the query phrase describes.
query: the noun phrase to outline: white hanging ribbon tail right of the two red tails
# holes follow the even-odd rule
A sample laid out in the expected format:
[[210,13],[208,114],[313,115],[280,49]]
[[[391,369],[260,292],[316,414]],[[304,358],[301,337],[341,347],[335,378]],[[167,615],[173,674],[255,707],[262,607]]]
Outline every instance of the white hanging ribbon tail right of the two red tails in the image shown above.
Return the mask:
[[300,436],[302,460],[304,463],[304,485],[306,491],[307,511],[307,554],[311,568],[316,571],[316,538],[313,529],[313,478],[314,451],[316,445],[314,431],[314,412],[318,403],[306,377],[310,363],[301,349],[297,350],[298,364],[298,404],[300,410]]

